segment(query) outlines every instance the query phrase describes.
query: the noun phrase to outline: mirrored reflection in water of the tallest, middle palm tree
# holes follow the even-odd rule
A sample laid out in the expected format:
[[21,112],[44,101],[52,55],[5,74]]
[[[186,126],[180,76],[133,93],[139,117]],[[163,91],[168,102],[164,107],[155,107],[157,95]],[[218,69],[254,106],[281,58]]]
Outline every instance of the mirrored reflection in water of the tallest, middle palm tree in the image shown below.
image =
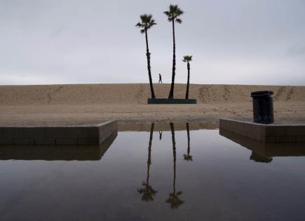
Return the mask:
[[174,123],[170,123],[170,130],[172,131],[172,155],[174,161],[174,180],[172,182],[173,192],[170,193],[170,196],[165,201],[165,203],[170,203],[170,208],[179,208],[179,206],[184,203],[181,199],[179,199],[179,195],[182,194],[182,191],[176,192],[176,142],[175,142],[175,129]]

